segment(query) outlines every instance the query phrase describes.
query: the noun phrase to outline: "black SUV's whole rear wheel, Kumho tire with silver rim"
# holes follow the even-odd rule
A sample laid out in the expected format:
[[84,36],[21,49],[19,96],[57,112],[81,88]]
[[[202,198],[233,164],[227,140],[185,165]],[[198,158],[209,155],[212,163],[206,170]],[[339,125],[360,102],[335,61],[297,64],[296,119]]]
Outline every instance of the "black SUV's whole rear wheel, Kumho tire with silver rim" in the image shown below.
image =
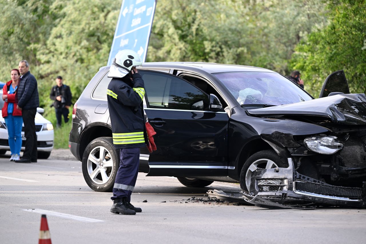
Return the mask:
[[91,141],[85,148],[82,158],[86,184],[96,192],[111,192],[119,160],[119,151],[113,147],[111,137],[98,137]]

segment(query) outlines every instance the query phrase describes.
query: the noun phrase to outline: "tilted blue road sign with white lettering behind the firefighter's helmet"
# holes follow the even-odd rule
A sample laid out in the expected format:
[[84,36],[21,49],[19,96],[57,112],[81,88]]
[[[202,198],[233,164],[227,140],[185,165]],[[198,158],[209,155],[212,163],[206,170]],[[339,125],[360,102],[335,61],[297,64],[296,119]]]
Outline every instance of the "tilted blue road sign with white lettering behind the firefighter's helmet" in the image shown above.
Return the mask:
[[134,50],[145,62],[154,12],[155,0],[123,0],[107,65],[123,49]]

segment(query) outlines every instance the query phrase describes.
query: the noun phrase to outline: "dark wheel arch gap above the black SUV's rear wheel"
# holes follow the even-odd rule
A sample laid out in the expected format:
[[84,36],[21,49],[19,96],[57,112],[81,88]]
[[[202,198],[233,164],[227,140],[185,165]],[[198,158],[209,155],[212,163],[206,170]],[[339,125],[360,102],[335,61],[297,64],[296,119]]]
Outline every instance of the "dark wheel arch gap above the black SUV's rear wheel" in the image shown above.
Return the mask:
[[89,126],[87,129],[85,129],[80,138],[79,155],[81,159],[83,158],[83,154],[87,145],[98,137],[112,137],[112,130],[107,126],[100,124]]

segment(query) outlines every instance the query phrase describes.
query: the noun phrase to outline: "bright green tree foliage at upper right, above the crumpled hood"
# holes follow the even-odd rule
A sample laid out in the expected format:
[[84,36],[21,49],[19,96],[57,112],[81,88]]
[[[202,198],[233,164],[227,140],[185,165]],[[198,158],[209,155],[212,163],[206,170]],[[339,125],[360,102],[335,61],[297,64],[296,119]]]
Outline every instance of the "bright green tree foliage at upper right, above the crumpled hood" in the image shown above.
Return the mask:
[[366,1],[332,0],[329,25],[309,34],[295,49],[291,64],[302,71],[306,89],[318,97],[323,81],[343,69],[350,91],[366,90]]

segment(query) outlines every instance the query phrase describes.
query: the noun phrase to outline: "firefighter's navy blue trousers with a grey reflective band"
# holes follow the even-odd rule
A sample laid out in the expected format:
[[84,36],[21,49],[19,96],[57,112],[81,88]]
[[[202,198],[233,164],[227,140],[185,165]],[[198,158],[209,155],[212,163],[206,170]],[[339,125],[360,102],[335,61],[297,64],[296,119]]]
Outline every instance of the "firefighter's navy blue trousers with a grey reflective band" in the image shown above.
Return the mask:
[[140,148],[120,149],[120,163],[113,186],[112,200],[127,197],[131,202],[131,194],[136,184],[140,163]]

